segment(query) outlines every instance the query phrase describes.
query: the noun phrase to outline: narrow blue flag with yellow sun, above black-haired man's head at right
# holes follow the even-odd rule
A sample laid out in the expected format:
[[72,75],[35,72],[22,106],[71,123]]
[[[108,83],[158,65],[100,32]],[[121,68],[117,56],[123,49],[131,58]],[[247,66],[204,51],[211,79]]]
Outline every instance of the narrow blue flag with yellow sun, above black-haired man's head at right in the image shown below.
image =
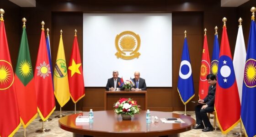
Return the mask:
[[218,74],[218,65],[219,65],[219,41],[218,41],[218,34],[214,36],[213,42],[213,55],[212,55],[212,62],[211,62],[211,73],[217,76]]

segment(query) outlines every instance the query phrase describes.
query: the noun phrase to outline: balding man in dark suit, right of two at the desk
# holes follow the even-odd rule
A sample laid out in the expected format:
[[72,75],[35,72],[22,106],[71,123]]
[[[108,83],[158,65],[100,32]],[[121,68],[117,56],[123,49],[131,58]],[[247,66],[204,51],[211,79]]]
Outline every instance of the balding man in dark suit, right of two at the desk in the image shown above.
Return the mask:
[[145,79],[139,78],[140,74],[139,71],[134,72],[134,86],[131,89],[132,91],[140,91],[140,90],[147,90],[147,85]]

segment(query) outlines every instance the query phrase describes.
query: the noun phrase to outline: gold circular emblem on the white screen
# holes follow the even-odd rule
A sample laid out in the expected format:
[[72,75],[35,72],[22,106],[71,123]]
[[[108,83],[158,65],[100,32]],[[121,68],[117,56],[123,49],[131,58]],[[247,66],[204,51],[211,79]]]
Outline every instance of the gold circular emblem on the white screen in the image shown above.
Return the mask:
[[115,45],[117,48],[117,53],[115,54],[117,58],[139,58],[140,37],[138,34],[131,31],[121,32],[117,34]]

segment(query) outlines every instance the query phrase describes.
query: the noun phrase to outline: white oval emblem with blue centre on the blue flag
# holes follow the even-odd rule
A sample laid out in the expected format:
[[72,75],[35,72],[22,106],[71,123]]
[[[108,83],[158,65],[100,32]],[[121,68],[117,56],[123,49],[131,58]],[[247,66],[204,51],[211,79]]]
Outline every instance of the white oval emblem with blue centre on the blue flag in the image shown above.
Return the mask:
[[179,76],[181,79],[188,79],[192,74],[191,64],[187,60],[181,61]]

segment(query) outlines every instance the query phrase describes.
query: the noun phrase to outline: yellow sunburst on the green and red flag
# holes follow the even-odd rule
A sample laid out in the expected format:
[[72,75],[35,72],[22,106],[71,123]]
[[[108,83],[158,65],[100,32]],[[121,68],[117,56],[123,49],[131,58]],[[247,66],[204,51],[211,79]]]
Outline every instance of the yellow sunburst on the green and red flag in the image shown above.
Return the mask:
[[23,60],[20,63],[19,68],[20,68],[19,71],[20,71],[21,75],[25,78],[29,77],[32,74],[31,63],[28,62],[27,60]]

